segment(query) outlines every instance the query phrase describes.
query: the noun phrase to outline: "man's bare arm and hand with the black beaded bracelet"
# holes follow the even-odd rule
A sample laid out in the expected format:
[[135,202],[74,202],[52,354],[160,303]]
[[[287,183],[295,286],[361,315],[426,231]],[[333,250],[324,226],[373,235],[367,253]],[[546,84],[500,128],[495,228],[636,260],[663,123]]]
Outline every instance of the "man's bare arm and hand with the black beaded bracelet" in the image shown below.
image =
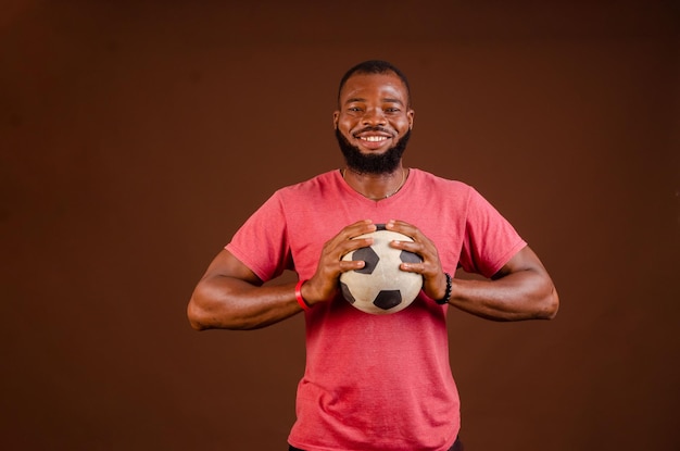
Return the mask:
[[[416,227],[393,222],[388,228],[414,238],[393,245],[418,253],[423,263],[402,264],[404,271],[423,274],[425,292],[432,299],[444,297],[446,277],[432,241]],[[494,321],[551,320],[559,299],[553,281],[529,247],[513,256],[491,280],[452,280],[451,305]]]

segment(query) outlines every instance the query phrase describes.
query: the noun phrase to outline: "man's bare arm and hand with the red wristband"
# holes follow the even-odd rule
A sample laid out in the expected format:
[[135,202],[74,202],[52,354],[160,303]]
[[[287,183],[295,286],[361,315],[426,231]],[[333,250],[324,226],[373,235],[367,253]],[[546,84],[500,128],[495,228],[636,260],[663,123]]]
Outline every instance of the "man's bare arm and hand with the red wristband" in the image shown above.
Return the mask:
[[[340,274],[364,265],[361,261],[344,262],[340,259],[354,249],[369,246],[370,240],[350,238],[375,228],[370,221],[362,221],[343,228],[324,245],[316,273],[302,286],[302,297],[308,304],[332,299],[338,290]],[[187,316],[197,330],[254,329],[278,323],[301,310],[294,284],[263,286],[248,266],[223,250],[196,287]]]

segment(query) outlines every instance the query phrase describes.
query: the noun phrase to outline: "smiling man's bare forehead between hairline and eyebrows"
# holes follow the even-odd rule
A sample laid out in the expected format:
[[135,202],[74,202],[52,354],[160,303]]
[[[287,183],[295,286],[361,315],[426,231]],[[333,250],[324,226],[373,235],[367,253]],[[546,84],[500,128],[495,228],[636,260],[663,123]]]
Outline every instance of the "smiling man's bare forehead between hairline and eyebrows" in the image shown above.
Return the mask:
[[340,103],[364,100],[399,100],[408,104],[408,92],[396,74],[354,74],[340,91]]

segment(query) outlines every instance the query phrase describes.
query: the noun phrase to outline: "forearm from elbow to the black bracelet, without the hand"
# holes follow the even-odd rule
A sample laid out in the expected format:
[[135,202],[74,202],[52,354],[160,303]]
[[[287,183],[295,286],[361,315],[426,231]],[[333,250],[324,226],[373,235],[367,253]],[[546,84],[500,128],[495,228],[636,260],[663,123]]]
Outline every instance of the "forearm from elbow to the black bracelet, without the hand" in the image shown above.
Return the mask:
[[558,298],[550,277],[534,270],[496,280],[453,279],[449,301],[474,315],[493,321],[551,320]]

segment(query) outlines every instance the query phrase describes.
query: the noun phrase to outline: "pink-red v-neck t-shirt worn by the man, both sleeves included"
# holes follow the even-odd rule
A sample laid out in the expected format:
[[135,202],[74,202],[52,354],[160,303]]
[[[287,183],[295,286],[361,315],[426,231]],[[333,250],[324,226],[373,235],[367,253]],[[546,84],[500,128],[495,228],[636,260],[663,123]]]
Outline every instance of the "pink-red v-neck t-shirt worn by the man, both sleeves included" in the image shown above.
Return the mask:
[[[326,241],[360,220],[401,220],[439,251],[443,270],[495,274],[526,242],[471,187],[411,170],[373,201],[332,171],[278,190],[226,247],[263,280],[310,278]],[[461,421],[449,364],[448,305],[421,291],[406,309],[370,315],[341,296],[305,312],[306,366],[289,442],[307,451],[448,450]]]

